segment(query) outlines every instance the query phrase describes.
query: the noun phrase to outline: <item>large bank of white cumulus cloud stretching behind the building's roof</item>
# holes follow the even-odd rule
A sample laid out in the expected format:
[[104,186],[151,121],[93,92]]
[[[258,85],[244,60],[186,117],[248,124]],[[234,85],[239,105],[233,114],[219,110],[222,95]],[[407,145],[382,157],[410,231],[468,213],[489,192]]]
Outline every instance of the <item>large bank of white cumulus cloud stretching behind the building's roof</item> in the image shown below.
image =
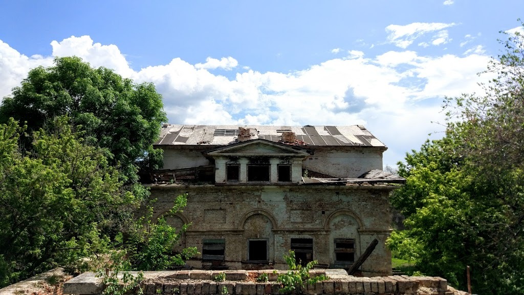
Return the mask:
[[[407,38],[450,25],[416,26],[397,33]],[[385,164],[395,164],[438,129],[430,121],[443,121],[443,96],[478,92],[476,73],[489,60],[482,48],[464,56],[423,56],[410,50],[367,56],[350,50],[346,57],[298,71],[248,69],[227,78],[209,70],[233,70],[238,64],[232,57],[208,58],[205,64],[196,65],[173,58],[166,65],[133,70],[115,45],[94,43],[89,36],[51,45],[53,55],[81,56],[93,66],[114,68],[137,82],[155,83],[171,123],[364,124],[389,144]],[[51,64],[52,57],[27,57],[0,41],[0,78],[4,81],[0,97],[9,94],[30,68]],[[399,132],[407,128],[409,132]]]

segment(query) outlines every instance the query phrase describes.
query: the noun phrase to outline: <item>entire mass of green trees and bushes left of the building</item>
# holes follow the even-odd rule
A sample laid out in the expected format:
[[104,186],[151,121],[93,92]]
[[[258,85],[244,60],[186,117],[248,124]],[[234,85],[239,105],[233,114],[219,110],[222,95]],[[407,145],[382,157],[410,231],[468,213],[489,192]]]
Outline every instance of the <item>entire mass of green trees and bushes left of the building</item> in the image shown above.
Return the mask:
[[[57,266],[122,273],[183,264],[196,248],[171,249],[185,226],[150,211],[135,217],[150,202],[138,168],[162,162],[152,149],[166,121],[160,94],[77,57],[54,62],[31,70],[0,106],[0,287]],[[177,197],[168,214],[185,202]],[[115,273],[103,276],[117,292]],[[135,279],[125,273],[124,287]]]

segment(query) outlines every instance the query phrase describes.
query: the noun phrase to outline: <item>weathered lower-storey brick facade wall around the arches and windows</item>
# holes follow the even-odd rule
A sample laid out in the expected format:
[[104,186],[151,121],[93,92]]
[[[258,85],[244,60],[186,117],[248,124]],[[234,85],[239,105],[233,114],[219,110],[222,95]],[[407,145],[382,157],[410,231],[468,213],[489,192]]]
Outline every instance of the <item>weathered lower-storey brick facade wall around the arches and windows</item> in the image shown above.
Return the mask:
[[[365,275],[389,275],[391,254],[385,247],[390,233],[389,189],[383,188],[154,185],[151,194],[158,199],[154,204],[154,216],[160,216],[171,208],[178,194],[188,193],[188,206],[181,213],[181,219],[192,223],[185,234],[185,246],[196,246],[202,252],[204,238],[225,239],[225,260],[231,269],[252,267],[242,264],[247,260],[247,239],[252,234],[245,229],[245,220],[260,214],[271,221],[269,259],[277,269],[287,268],[282,257],[290,249],[291,238],[312,238],[313,259],[326,267],[334,262],[333,238],[358,238],[356,257],[377,238],[378,246],[361,269]],[[349,216],[354,220],[354,227],[347,228],[347,236],[333,236],[335,225],[331,221],[340,218],[337,216]],[[344,230],[337,228],[337,235],[343,235]],[[358,237],[352,237],[355,230]],[[199,260],[188,264],[202,267]]]

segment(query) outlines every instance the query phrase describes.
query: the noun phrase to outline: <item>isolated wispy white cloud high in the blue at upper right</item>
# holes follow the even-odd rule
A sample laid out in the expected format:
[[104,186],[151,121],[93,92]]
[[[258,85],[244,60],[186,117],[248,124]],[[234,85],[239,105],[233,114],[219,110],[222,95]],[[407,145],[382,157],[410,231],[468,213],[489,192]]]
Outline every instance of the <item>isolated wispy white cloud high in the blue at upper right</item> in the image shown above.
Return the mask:
[[386,31],[389,34],[387,39],[389,43],[395,44],[397,47],[407,48],[414,40],[424,34],[443,30],[454,25],[455,23],[411,23],[405,26],[389,25],[386,27]]

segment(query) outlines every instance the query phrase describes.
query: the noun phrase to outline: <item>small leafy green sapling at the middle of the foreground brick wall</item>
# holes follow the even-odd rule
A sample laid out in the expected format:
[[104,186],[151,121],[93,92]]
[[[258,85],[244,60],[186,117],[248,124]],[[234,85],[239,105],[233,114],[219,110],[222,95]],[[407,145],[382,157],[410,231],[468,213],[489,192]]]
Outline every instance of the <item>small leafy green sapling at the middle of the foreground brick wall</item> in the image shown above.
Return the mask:
[[307,285],[314,285],[316,282],[328,279],[325,275],[310,277],[309,270],[318,264],[316,260],[308,262],[305,266],[300,265],[300,263],[297,264],[292,250],[289,250],[284,259],[286,259],[289,271],[278,275],[277,282],[281,284],[280,293],[302,294]]

